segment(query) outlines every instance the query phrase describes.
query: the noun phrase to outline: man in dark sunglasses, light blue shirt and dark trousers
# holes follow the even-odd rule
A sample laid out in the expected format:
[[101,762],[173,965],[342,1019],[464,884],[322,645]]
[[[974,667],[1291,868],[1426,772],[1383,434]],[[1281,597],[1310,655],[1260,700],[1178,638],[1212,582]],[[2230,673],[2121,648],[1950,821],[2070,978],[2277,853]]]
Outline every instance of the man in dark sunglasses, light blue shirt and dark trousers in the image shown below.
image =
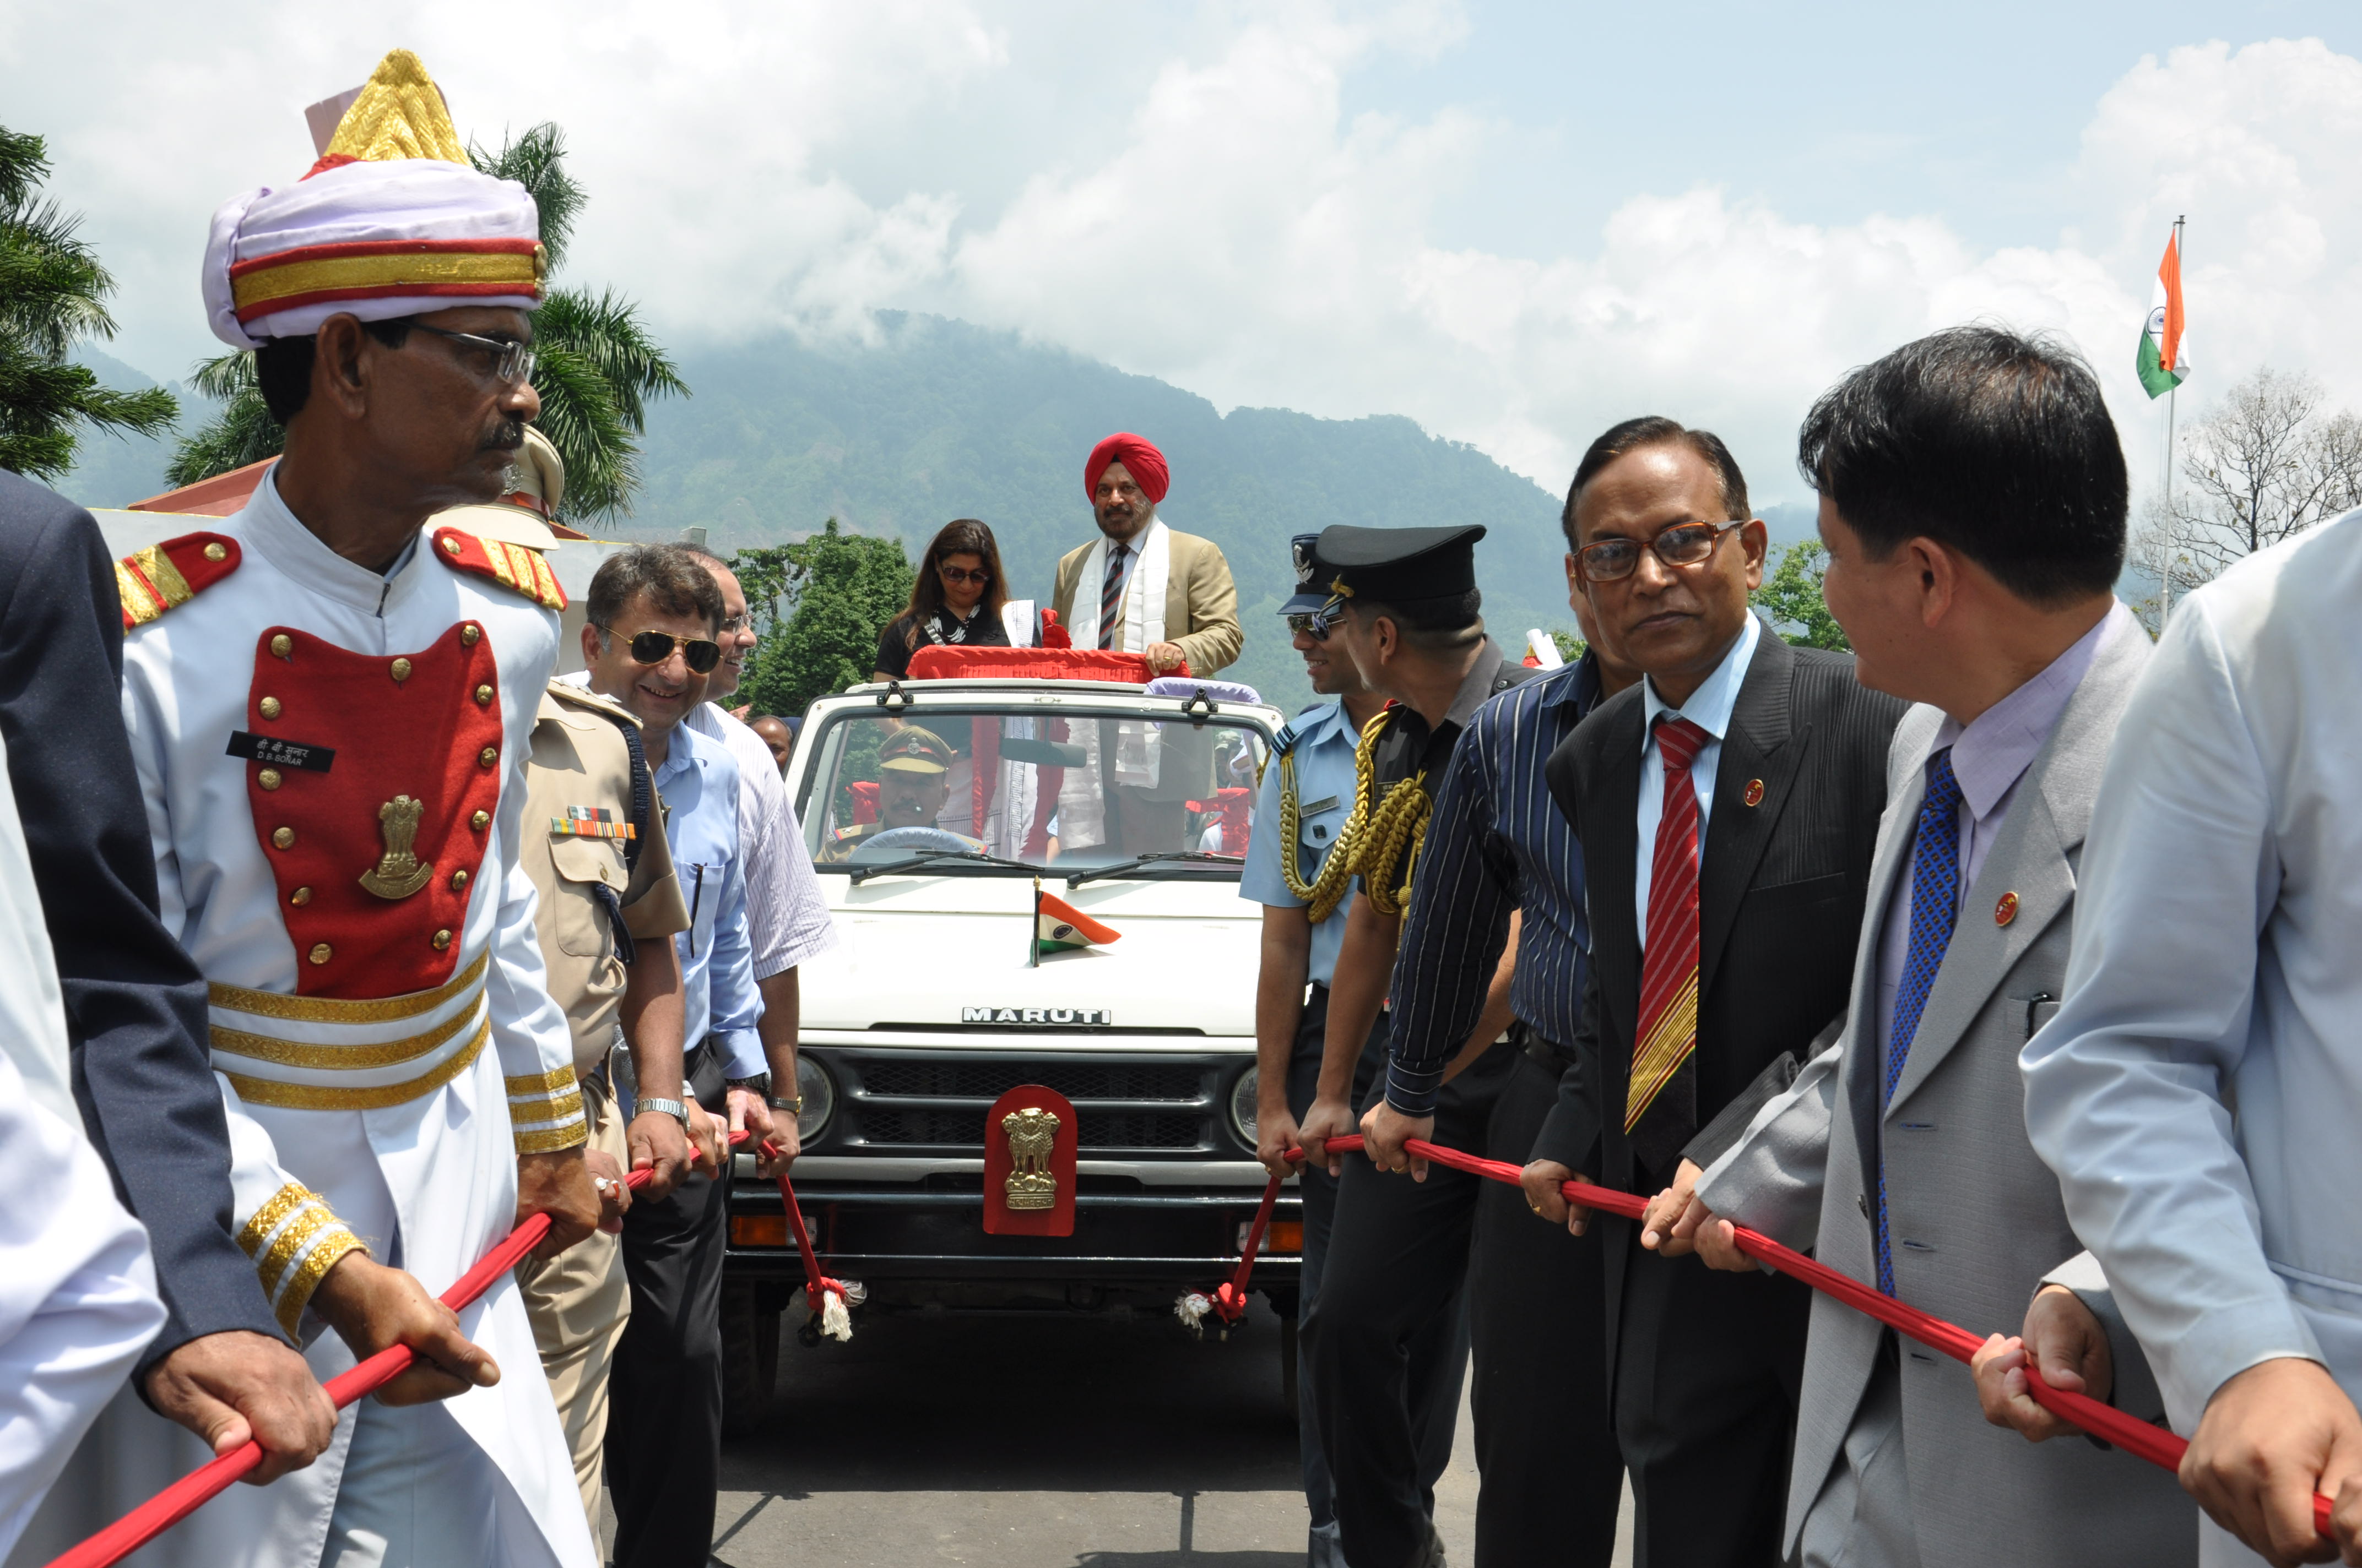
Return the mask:
[[[692,730],[720,664],[723,595],[683,545],[609,555],[590,579],[588,685],[640,720],[640,744],[666,805],[673,876],[690,928],[673,937],[683,980],[683,1084],[699,1108],[645,1100],[683,1124],[727,1115],[770,1136],[763,1015],[746,928],[739,770],[730,749]],[[694,1131],[694,1126],[692,1126]],[[727,1162],[690,1174],[661,1202],[624,1216],[631,1327],[609,1379],[607,1488],[616,1568],[704,1568],[720,1483]]]

